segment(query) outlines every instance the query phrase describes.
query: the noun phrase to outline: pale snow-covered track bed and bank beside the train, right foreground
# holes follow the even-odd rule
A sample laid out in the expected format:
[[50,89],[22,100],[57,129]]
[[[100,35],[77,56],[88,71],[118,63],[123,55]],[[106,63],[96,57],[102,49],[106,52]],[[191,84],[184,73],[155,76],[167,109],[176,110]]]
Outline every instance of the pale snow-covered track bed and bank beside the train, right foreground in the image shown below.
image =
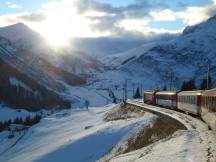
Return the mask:
[[171,137],[147,147],[114,157],[112,162],[215,162],[216,132],[208,130],[205,123],[173,110],[139,102],[134,104],[171,116],[184,123],[188,129],[177,131]]

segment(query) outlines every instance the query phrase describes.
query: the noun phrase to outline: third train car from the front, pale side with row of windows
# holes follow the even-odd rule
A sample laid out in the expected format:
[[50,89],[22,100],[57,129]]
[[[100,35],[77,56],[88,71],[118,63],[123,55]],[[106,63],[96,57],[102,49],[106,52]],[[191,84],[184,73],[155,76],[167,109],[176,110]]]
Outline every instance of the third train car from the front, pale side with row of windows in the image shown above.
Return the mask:
[[182,91],[178,93],[177,109],[186,113],[201,115],[201,95],[203,91]]

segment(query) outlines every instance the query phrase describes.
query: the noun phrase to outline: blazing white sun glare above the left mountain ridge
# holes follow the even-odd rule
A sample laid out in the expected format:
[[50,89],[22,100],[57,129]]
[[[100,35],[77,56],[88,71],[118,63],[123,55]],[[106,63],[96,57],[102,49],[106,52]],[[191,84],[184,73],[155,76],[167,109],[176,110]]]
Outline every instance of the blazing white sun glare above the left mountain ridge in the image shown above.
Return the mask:
[[46,20],[34,24],[33,28],[44,36],[51,46],[62,47],[70,45],[70,40],[74,38],[101,36],[100,32],[92,30],[95,23],[96,20],[90,20],[88,16],[76,13],[75,9],[64,6],[47,14]]

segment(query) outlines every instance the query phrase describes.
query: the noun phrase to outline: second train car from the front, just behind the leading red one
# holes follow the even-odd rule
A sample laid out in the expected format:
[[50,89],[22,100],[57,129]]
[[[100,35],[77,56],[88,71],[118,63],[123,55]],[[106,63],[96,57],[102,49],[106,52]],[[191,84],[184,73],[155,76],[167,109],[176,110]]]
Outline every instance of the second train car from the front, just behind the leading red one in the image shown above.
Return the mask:
[[156,104],[171,109],[177,109],[177,92],[176,91],[156,92]]

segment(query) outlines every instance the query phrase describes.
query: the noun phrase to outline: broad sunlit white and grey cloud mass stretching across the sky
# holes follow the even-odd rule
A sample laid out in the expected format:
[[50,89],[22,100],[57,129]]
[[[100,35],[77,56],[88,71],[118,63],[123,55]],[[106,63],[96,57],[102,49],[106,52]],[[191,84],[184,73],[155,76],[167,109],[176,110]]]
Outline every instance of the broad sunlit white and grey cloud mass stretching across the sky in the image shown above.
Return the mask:
[[[216,0],[208,6],[196,7],[180,3],[182,11],[175,11],[165,1],[135,0],[127,6],[115,7],[97,0],[59,0],[42,5],[36,13],[0,16],[1,25],[23,22],[48,35],[66,34],[74,37],[145,36],[177,33],[182,29],[150,28],[151,22],[177,20],[185,26],[194,25],[214,15]],[[39,24],[40,23],[40,24]]]

